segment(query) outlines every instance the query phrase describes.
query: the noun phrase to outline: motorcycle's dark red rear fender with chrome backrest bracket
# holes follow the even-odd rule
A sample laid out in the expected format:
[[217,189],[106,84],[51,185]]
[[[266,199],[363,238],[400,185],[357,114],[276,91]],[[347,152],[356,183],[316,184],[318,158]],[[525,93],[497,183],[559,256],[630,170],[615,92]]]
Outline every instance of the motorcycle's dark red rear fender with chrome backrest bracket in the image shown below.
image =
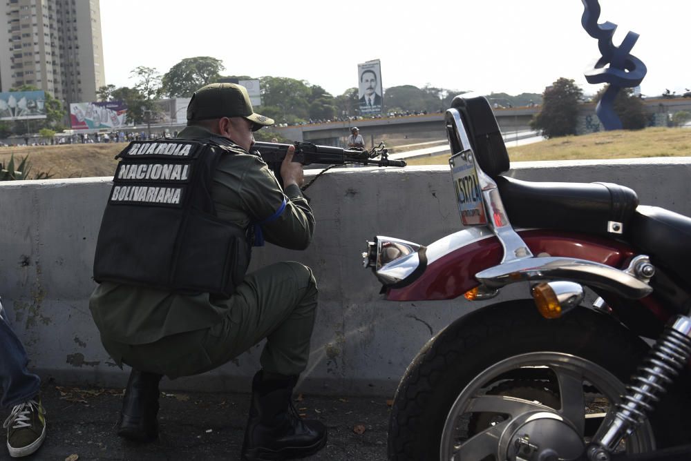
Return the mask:
[[[487,215],[486,224],[464,228],[424,248],[424,271],[417,271],[415,277],[411,277],[415,280],[406,282],[406,286],[387,286],[386,299],[399,302],[451,300],[477,286],[484,288],[483,291],[487,293],[516,282],[517,278],[538,279],[546,273],[541,271],[547,267],[545,262],[566,262],[580,266],[594,263],[594,266],[599,265],[596,270],[607,274],[599,280],[591,277],[593,283],[586,282],[584,285],[607,302],[606,305],[600,305],[602,311],[616,315],[638,334],[656,337],[672,315],[679,313],[675,312],[669,300],[662,300],[654,292],[651,293],[653,290],[648,286],[650,279],[636,276],[632,266],[626,267],[637,257],[640,259],[641,255],[618,239],[621,238],[621,232],[612,232],[609,234],[611,237],[598,237],[557,230],[515,230],[497,184],[484,173],[474,158],[473,146],[460,112],[454,108],[447,110],[445,123],[452,154],[461,154],[475,164]],[[609,228],[612,228],[612,224],[609,223]],[[619,224],[618,228],[621,229]],[[559,257],[565,258],[565,261],[556,261]],[[411,259],[410,264],[419,263],[419,259]],[[504,268],[511,266],[531,268],[531,275],[526,275],[526,271],[517,273],[510,269],[502,273]],[[614,283],[617,277],[624,279],[623,282]],[[636,288],[632,288],[631,284]],[[683,289],[681,291],[685,292]]]

